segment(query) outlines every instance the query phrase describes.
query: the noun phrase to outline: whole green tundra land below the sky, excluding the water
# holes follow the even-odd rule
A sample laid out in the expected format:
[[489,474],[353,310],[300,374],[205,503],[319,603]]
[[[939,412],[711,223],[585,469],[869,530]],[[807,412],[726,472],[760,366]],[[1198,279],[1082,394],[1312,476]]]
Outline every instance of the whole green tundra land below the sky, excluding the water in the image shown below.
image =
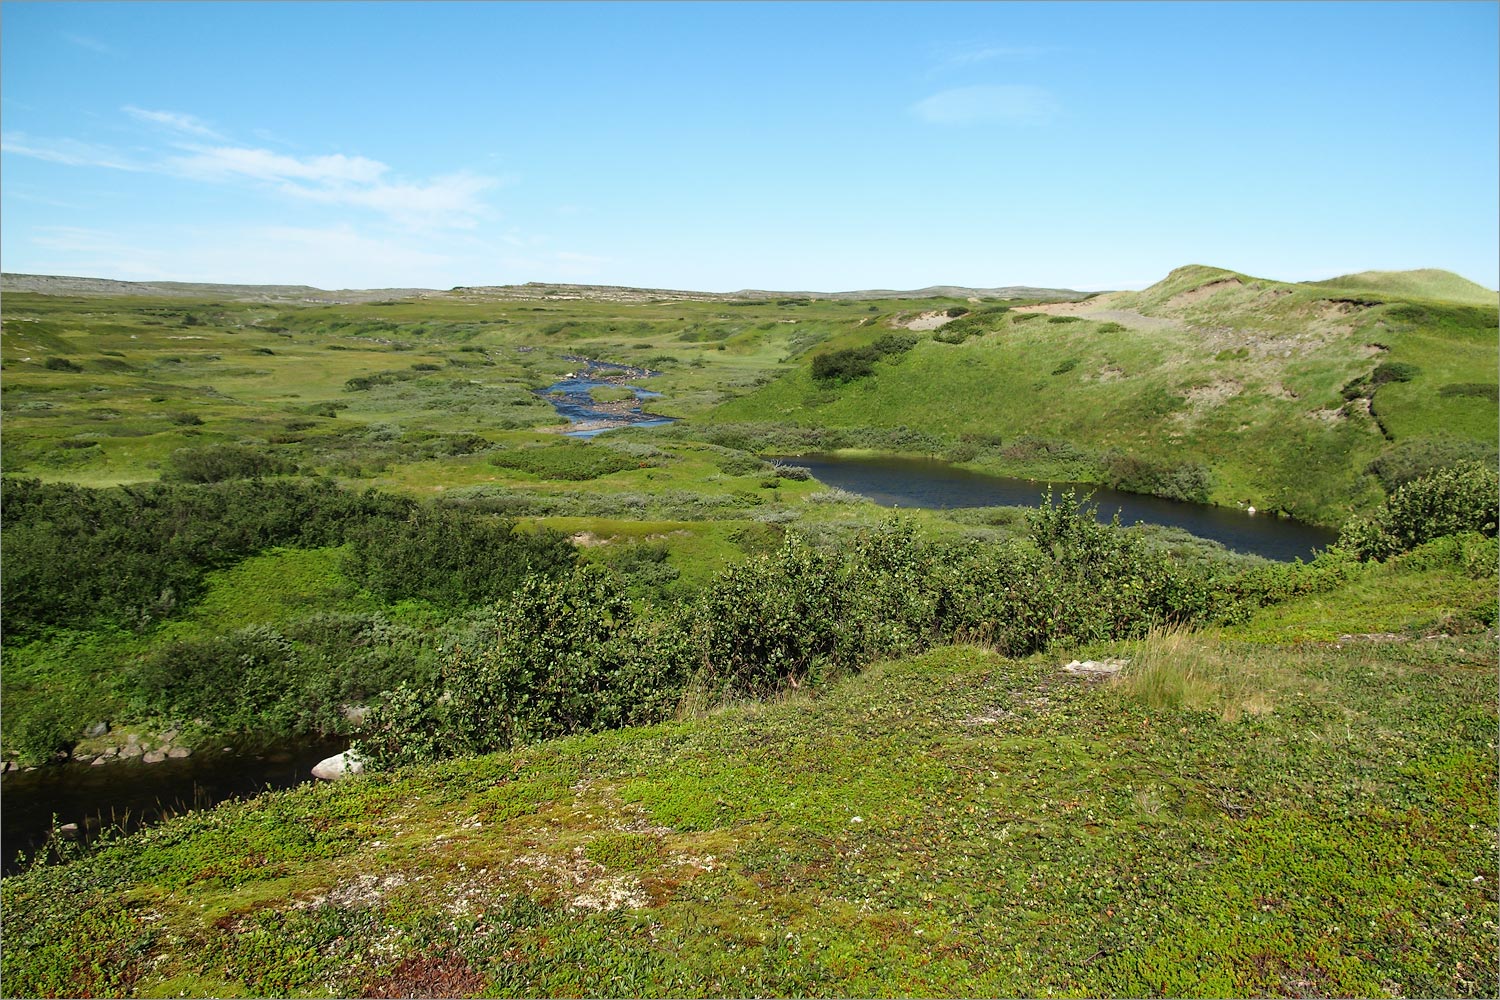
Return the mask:
[[8,274],[8,804],[364,769],[54,820],[8,991],[1494,993],[1494,294],[944,291]]

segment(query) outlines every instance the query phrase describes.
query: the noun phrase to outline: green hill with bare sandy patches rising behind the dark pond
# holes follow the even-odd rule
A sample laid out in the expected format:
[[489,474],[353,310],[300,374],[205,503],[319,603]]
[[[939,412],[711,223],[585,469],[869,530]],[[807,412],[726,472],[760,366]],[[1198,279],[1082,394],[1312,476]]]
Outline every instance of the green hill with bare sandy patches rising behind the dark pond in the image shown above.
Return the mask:
[[1292,285],[1185,267],[1140,292],[975,304],[934,328],[897,316],[826,345],[849,358],[892,324],[914,331],[867,370],[814,355],[710,420],[768,439],[784,436],[768,421],[903,429],[981,469],[1336,525],[1378,499],[1374,462],[1494,451],[1494,294],[1473,304],[1478,286],[1434,274]]

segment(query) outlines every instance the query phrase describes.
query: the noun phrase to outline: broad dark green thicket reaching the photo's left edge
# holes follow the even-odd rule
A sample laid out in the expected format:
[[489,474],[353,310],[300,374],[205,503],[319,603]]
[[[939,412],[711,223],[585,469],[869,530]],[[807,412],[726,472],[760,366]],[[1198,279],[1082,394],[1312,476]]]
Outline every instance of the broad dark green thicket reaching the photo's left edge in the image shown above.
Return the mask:
[[8,637],[88,619],[144,625],[190,601],[210,570],[272,546],[340,544],[351,523],[411,507],[327,480],[3,489]]

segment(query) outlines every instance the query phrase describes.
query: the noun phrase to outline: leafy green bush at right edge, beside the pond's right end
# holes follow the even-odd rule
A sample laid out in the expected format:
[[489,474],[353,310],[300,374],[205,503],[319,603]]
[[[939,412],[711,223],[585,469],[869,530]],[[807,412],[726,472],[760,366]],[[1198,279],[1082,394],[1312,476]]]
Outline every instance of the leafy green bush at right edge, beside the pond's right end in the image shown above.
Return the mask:
[[1500,523],[1500,477],[1494,463],[1461,462],[1396,489],[1368,517],[1348,520],[1338,544],[1360,559],[1389,559],[1425,541],[1479,532]]

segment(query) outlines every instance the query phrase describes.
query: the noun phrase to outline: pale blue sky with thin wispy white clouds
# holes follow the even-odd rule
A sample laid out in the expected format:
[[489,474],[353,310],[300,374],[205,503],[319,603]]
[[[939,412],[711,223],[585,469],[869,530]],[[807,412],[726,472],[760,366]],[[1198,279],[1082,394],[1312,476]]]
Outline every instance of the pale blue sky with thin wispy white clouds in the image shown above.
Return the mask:
[[1500,283],[1496,3],[3,3],[8,271]]

